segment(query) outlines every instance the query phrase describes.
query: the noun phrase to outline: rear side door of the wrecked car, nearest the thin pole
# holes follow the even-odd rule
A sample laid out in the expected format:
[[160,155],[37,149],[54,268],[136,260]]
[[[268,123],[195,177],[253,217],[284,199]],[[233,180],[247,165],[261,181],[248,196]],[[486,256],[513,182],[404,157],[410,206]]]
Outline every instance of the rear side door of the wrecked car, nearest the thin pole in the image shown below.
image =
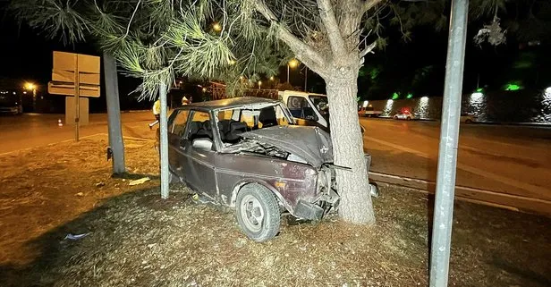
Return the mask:
[[181,157],[183,156],[183,141],[186,124],[190,115],[189,110],[176,110],[168,122],[168,163],[172,173],[185,181]]

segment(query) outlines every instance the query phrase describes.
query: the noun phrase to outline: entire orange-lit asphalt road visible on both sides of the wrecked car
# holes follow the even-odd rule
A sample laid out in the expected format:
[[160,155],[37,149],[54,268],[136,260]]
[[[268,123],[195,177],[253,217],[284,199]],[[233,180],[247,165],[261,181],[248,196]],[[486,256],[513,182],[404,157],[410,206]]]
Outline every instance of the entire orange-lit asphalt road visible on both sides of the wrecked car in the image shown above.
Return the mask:
[[[58,119],[64,116],[0,116],[0,155],[74,139],[74,127],[58,127]],[[154,139],[152,121],[149,111],[123,113],[123,136]],[[81,137],[107,133],[106,114],[90,114],[89,122]],[[372,179],[434,191],[439,122],[360,118],[360,124]],[[551,128],[462,124],[460,132],[458,196],[551,215]]]

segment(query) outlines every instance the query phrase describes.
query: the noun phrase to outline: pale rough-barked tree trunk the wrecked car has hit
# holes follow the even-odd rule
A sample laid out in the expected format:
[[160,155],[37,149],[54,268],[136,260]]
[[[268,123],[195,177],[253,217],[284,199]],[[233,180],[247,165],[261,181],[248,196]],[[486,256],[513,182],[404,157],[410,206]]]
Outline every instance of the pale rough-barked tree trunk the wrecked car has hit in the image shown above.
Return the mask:
[[335,165],[352,168],[352,171],[336,171],[336,184],[341,196],[339,215],[352,224],[373,224],[375,215],[356,102],[358,70],[359,66],[352,64],[348,68],[335,68],[326,77],[329,121]]

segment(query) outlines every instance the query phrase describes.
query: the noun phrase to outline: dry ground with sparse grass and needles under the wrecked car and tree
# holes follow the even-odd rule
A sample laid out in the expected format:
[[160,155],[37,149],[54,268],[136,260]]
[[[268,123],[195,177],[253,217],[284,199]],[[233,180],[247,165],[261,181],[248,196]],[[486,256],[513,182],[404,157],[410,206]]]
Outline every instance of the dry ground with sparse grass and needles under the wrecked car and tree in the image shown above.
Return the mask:
[[[188,190],[159,198],[156,151],[125,141],[130,186],[106,139],[0,156],[0,286],[426,286],[433,198],[381,186],[377,224],[329,218],[249,241]],[[68,233],[88,233],[72,241]],[[550,286],[551,219],[456,202],[450,286]]]

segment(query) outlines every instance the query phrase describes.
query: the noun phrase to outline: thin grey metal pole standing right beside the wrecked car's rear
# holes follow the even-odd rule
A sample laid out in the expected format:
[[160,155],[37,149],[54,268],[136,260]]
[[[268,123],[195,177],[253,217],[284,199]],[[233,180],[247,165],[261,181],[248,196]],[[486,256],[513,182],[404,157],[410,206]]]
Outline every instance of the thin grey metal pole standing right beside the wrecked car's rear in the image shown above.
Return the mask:
[[161,136],[161,198],[168,198],[168,133],[166,129],[166,84],[162,83],[159,87],[159,98],[161,100],[161,114],[159,119],[159,129]]

